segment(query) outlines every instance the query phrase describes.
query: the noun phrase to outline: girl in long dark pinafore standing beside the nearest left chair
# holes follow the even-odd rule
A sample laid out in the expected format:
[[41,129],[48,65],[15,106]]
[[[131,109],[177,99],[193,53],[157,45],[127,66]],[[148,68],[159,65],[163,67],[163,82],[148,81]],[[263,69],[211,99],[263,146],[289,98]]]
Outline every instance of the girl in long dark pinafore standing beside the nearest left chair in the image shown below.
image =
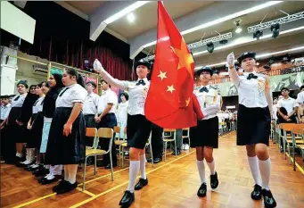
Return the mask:
[[57,195],[78,186],[78,164],[86,158],[86,121],[81,112],[87,96],[84,80],[74,69],[65,69],[62,83],[66,87],[56,100],[45,154],[46,163],[64,165],[64,179],[53,187]]

